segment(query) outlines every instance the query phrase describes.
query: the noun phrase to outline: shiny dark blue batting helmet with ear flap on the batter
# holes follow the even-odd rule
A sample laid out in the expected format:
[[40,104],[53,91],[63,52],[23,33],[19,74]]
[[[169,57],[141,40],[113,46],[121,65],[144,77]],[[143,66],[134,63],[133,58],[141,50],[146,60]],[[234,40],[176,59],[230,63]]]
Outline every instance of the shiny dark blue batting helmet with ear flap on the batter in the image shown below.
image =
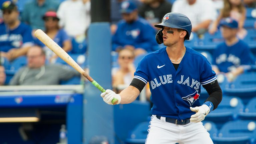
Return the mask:
[[155,25],[155,27],[163,28],[163,27],[171,27],[171,28],[178,28],[178,29],[184,29],[187,32],[187,35],[185,36],[186,40],[189,40],[192,25],[191,21],[187,16],[181,13],[167,13],[163,17],[162,23]]

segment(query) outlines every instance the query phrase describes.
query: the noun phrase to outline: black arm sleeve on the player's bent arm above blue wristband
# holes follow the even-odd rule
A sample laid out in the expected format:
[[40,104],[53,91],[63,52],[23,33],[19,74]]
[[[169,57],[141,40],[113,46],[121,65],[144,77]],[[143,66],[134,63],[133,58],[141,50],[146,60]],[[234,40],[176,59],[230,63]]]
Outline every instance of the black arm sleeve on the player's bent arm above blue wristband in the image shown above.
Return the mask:
[[222,90],[217,80],[203,85],[203,88],[209,94],[209,97],[205,101],[210,101],[213,103],[213,110],[215,110],[222,100]]

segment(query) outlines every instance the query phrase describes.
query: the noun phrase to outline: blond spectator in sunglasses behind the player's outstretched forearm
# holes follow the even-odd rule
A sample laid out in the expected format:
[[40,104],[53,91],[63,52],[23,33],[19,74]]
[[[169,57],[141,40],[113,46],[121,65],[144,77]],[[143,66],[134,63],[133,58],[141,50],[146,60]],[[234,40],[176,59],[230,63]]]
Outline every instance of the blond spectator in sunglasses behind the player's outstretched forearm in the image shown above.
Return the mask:
[[113,73],[113,88],[116,89],[117,92],[120,92],[120,86],[127,87],[133,77],[135,72],[134,67],[134,53],[130,49],[123,49],[119,52],[118,55],[118,64],[119,69]]

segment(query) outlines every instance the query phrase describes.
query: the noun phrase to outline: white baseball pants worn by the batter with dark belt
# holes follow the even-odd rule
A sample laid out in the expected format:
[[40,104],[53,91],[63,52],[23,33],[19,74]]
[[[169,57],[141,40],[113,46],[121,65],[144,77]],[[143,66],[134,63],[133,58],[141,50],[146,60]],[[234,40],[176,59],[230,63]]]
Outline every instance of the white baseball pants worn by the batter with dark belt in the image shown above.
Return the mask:
[[146,144],[213,144],[202,122],[176,125],[151,117]]

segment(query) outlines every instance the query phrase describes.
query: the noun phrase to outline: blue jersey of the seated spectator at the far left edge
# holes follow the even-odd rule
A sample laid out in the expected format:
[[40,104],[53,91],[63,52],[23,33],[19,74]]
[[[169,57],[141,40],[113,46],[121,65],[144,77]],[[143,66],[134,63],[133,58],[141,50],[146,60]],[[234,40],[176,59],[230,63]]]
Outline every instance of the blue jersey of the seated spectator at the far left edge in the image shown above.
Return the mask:
[[20,25],[10,30],[4,23],[0,24],[0,51],[8,52],[12,48],[20,48],[33,45],[32,29],[29,25]]

